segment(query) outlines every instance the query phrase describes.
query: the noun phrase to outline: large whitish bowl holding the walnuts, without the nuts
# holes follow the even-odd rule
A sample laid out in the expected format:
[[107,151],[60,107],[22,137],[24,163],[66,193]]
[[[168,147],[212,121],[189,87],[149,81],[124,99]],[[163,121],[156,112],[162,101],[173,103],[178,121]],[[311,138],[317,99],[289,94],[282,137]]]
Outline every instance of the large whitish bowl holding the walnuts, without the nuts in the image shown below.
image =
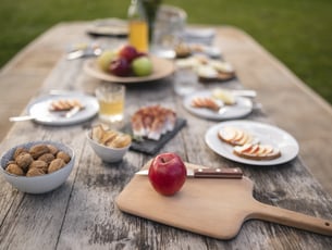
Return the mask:
[[[46,175],[40,176],[17,176],[10,174],[5,171],[7,163],[13,159],[13,154],[19,147],[23,147],[29,149],[32,146],[46,143],[46,145],[53,145],[59,150],[66,152],[71,157],[71,161],[63,166],[62,168]],[[54,142],[54,141],[32,141],[23,145],[15,146],[14,148],[7,151],[1,158],[1,167],[0,172],[3,177],[15,188],[20,191],[28,192],[28,193],[44,193],[51,191],[58,187],[60,187],[71,174],[75,162],[75,154],[74,151],[69,148],[67,146]]]

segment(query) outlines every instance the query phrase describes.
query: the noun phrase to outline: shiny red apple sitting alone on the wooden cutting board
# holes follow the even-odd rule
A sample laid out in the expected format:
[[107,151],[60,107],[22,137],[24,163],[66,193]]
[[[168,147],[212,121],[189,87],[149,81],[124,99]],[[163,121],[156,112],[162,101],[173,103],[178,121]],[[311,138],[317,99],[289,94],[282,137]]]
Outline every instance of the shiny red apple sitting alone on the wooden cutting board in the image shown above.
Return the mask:
[[176,153],[158,154],[149,168],[149,180],[156,191],[163,196],[177,192],[186,180],[187,170]]

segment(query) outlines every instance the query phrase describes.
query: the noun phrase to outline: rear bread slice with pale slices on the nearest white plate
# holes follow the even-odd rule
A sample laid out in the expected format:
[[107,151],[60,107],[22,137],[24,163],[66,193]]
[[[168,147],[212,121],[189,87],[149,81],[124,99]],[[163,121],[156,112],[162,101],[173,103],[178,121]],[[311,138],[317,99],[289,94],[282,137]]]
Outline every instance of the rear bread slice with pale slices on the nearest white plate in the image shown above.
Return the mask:
[[246,143],[256,145],[259,142],[250,133],[237,127],[223,127],[218,132],[218,137],[222,141],[232,146],[244,146]]

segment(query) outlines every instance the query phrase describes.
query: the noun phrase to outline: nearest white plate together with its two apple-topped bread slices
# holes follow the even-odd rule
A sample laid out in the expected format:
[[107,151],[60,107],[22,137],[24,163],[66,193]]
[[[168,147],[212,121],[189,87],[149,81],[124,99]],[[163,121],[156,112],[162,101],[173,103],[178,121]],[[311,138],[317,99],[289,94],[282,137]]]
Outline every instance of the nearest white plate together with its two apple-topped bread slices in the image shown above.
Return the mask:
[[250,165],[278,165],[298,154],[298,143],[287,132],[253,121],[229,121],[208,129],[207,146],[229,160]]

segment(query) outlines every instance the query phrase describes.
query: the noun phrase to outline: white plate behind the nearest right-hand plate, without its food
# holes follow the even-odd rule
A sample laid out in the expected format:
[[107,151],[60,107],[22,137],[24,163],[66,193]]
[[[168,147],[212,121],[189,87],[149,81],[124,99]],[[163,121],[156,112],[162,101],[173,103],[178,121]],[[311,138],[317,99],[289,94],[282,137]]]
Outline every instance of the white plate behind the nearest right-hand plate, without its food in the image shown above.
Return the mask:
[[195,97],[211,97],[211,90],[192,93],[187,96],[183,101],[184,108],[186,110],[202,118],[217,121],[239,118],[246,116],[253,111],[253,101],[245,97],[235,97],[236,103],[234,105],[225,105],[225,111],[221,114],[209,109],[192,107],[192,100]]

